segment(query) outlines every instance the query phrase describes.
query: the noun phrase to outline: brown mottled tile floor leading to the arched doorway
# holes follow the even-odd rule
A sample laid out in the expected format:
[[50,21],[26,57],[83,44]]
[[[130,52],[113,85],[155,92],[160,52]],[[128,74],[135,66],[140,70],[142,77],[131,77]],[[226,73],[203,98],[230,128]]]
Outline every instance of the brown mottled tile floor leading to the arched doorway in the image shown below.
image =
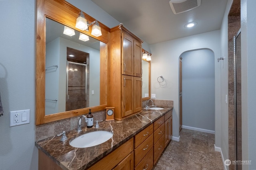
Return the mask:
[[214,134],[182,129],[180,141],[171,141],[153,170],[223,170]]

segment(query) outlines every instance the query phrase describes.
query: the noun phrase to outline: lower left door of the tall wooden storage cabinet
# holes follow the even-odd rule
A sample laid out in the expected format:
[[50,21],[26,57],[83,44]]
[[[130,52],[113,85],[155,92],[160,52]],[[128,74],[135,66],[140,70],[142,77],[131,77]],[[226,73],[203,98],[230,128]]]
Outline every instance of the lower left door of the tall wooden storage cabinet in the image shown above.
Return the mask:
[[134,113],[134,82],[132,76],[123,75],[122,78],[122,117],[125,117]]

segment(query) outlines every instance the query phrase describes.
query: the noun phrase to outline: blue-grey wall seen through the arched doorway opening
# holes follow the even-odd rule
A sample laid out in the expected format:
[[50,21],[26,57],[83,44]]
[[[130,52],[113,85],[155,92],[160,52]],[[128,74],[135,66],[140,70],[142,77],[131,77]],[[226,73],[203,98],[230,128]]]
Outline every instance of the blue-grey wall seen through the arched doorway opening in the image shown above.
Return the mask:
[[214,53],[187,51],[182,57],[182,125],[215,131]]

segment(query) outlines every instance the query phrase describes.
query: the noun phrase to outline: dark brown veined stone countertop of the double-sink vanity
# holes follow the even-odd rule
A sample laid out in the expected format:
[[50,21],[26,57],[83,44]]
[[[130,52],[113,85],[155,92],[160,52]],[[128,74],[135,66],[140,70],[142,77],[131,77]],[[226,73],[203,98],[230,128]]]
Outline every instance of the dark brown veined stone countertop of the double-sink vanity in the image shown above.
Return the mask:
[[[79,134],[76,129],[68,131],[66,132],[68,140],[65,142],[60,141],[61,137],[53,136],[38,141],[35,145],[62,169],[84,170],[134,137],[134,135],[148,127],[171,109],[173,109],[173,107],[161,110],[143,109],[142,112],[122,121],[99,122],[100,128],[98,129],[95,127],[82,127],[82,132]],[[112,139],[100,145],[88,148],[75,148],[69,145],[69,141],[74,139],[74,137],[97,130],[113,131]]]

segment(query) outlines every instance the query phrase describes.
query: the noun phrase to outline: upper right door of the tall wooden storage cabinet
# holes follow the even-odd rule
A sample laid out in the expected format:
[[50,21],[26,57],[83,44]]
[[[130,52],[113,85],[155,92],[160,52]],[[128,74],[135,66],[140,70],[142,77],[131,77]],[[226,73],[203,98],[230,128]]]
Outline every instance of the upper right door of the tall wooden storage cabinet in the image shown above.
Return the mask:
[[142,77],[142,49],[141,43],[134,40],[134,76]]

